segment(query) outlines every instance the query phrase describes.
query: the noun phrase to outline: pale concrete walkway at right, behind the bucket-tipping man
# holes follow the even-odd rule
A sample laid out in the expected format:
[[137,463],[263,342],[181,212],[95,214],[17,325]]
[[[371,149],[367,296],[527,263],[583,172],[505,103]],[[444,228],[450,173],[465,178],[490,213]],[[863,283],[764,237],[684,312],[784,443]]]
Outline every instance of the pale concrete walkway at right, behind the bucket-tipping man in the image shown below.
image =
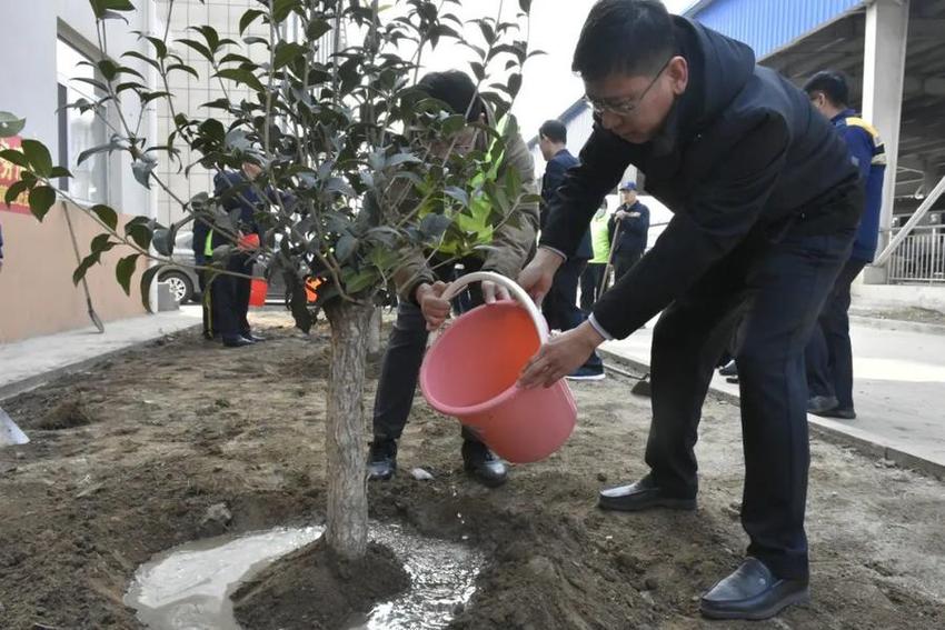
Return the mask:
[[[653,324],[603,350],[648,369]],[[901,466],[945,474],[945,334],[942,327],[914,328],[856,318],[854,349],[856,420],[808,416],[812,430]],[[738,386],[717,373],[712,389],[738,397]]]

